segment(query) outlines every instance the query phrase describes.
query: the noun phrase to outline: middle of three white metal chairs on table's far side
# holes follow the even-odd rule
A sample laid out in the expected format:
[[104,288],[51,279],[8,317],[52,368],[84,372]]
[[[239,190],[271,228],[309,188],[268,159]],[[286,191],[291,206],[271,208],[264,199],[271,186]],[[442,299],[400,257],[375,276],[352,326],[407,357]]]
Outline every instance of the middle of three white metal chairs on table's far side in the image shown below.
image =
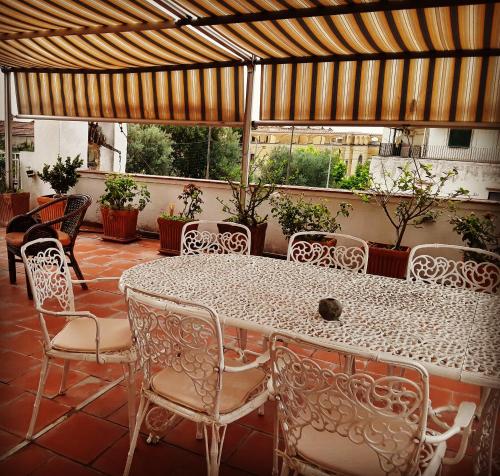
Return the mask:
[[290,238],[287,260],[366,274],[368,243],[341,233],[301,231]]

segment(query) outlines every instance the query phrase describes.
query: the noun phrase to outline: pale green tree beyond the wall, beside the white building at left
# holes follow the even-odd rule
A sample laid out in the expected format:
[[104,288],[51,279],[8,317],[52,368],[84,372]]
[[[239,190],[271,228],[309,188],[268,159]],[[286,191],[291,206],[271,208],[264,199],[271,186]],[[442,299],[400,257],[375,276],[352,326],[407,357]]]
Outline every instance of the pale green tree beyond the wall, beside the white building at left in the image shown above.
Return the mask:
[[172,141],[159,126],[132,124],[128,128],[127,172],[171,175]]

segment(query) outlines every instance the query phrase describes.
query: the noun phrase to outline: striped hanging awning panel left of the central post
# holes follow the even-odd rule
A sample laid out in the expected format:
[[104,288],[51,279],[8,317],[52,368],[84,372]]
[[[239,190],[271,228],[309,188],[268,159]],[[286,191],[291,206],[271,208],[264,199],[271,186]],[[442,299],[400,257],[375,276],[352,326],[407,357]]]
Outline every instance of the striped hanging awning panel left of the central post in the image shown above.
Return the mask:
[[141,73],[15,73],[22,115],[238,123],[243,66]]

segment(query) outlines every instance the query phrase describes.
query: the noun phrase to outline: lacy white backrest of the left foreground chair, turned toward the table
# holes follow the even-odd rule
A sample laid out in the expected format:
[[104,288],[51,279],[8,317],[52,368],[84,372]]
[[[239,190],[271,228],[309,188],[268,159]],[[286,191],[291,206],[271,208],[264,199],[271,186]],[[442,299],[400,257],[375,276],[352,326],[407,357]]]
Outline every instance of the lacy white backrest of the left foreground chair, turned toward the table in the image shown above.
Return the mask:
[[128,317],[143,388],[153,372],[170,368],[189,377],[204,413],[219,414],[224,354],[217,313],[201,304],[126,288]]

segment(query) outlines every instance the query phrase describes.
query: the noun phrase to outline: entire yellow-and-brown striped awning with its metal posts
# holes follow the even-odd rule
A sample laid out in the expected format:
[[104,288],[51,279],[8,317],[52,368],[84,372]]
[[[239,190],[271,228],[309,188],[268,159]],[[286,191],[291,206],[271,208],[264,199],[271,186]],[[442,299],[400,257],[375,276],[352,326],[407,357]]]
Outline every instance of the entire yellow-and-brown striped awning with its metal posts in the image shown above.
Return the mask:
[[1,0],[19,117],[243,127],[500,126],[500,2]]

